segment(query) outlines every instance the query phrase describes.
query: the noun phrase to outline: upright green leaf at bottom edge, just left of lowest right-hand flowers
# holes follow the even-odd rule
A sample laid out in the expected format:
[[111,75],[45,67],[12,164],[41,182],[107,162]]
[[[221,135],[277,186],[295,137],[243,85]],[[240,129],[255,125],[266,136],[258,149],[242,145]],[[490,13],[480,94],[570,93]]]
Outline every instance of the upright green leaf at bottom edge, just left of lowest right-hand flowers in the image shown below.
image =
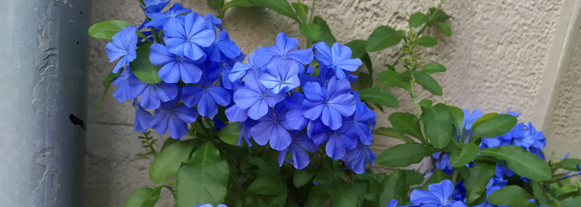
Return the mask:
[[403,204],[406,202],[406,173],[403,170],[395,169],[392,174],[385,179],[383,192],[379,195],[379,206],[388,206],[389,201],[396,199]]

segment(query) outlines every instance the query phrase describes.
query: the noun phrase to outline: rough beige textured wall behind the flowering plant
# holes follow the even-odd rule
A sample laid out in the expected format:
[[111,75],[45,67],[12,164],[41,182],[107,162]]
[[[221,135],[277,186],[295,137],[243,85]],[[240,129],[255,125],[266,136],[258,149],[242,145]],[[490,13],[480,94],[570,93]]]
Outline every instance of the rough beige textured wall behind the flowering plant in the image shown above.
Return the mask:
[[[435,75],[444,95],[435,97],[420,90],[419,99],[429,98],[460,108],[479,108],[483,112],[516,110],[523,113],[520,121],[528,122],[563,1],[447,1],[443,10],[456,18],[449,20],[453,34],[444,37],[437,30],[428,30],[427,34],[436,37],[439,44],[424,49],[423,56],[426,62],[440,62],[447,67],[448,72]],[[206,0],[178,2],[195,12],[216,15]],[[310,1],[303,2],[310,5]],[[353,39],[366,39],[381,25],[407,29],[407,17],[411,13],[424,12],[437,2],[320,0],[315,14],[327,20],[336,39],[345,44]],[[144,18],[137,0],[94,1],[92,9],[92,23],[119,19],[137,25]],[[259,45],[273,45],[279,32],[299,38],[299,45],[306,44],[297,23],[264,8],[230,9],[223,26],[247,54]],[[139,133],[131,128],[134,119],[131,103],[119,103],[108,95],[101,109],[92,108],[101,98],[101,81],[114,66],[114,63],[107,63],[103,49],[106,42],[91,40],[85,196],[85,204],[89,207],[119,206],[132,190],[152,186],[147,176],[151,159],[137,160],[144,150],[136,138]],[[383,63],[392,63],[399,49],[393,47],[372,53],[375,72],[385,70]],[[378,112],[378,126],[389,126],[387,117],[396,110],[414,112],[411,99],[403,90],[390,91],[400,98],[400,108]],[[372,149],[376,153],[399,144],[387,137],[375,139]],[[379,166],[372,169],[389,171]],[[171,206],[171,195],[167,191],[163,193],[157,206]]]

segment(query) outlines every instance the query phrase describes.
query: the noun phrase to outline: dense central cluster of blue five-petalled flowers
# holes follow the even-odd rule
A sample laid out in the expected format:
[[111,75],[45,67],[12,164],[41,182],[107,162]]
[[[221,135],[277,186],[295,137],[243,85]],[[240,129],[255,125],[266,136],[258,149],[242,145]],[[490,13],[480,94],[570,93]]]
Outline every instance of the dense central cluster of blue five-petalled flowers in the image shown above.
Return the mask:
[[[279,152],[279,164],[290,152],[296,169],[309,165],[309,155],[325,145],[332,159],[342,159],[355,173],[364,173],[376,155],[373,140],[375,112],[351,90],[349,74],[361,65],[351,59],[349,47],[324,42],[297,48],[299,41],[279,33],[276,45],[259,47],[248,63],[235,63],[229,79],[234,83],[234,105],[226,115],[241,124],[242,138],[252,145],[269,144]],[[315,52],[314,52],[315,51]],[[316,59],[318,76],[312,76]],[[240,80],[243,77],[243,83]],[[349,79],[348,79],[349,78]]]

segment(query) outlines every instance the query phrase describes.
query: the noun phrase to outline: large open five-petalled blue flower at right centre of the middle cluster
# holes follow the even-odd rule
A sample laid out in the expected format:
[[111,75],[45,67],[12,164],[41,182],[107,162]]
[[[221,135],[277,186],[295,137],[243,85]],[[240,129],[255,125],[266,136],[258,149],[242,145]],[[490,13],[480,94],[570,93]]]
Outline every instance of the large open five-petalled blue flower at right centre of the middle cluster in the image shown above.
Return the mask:
[[322,123],[339,129],[342,116],[351,116],[356,109],[355,98],[351,94],[351,85],[345,78],[332,78],[328,87],[318,83],[305,83],[303,115],[310,120],[321,118]]

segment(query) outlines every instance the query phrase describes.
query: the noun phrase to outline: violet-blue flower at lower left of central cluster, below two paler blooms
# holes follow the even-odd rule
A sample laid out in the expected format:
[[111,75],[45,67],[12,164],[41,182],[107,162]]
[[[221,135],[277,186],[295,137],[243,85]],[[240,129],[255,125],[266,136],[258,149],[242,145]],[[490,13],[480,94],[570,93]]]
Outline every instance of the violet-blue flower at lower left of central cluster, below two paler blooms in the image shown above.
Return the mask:
[[274,110],[268,108],[266,116],[260,118],[260,123],[252,127],[252,137],[259,145],[266,145],[281,151],[289,147],[292,138],[287,130],[292,130],[286,124],[286,110],[284,102],[274,106]]

